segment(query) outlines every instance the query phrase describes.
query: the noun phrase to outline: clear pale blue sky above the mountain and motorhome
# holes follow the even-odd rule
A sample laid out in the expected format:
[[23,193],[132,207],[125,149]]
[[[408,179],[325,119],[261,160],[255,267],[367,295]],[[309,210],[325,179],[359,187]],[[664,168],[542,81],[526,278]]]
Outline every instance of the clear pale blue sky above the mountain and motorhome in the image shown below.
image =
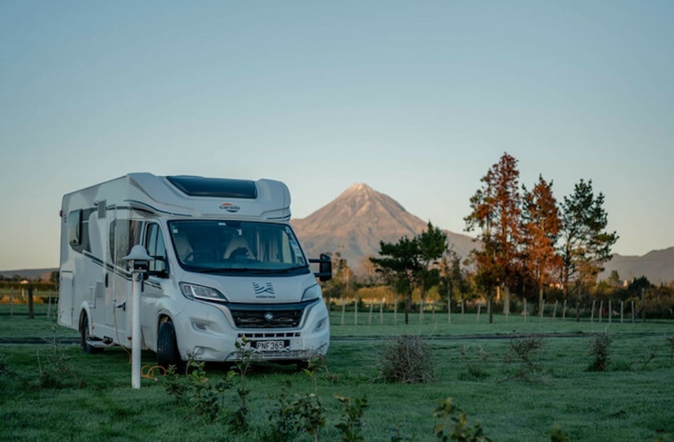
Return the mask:
[[0,1],[0,269],[58,265],[63,193],[131,171],[353,183],[454,232],[504,152],[674,245],[674,1]]

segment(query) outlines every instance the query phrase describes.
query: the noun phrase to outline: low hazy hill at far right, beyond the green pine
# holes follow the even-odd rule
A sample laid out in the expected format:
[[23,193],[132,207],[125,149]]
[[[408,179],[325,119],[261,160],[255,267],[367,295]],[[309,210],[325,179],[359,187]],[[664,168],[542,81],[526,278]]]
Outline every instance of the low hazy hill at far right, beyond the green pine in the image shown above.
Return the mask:
[[643,256],[613,255],[599,279],[608,279],[613,270],[623,281],[645,276],[653,284],[669,284],[674,281],[674,247],[653,250]]

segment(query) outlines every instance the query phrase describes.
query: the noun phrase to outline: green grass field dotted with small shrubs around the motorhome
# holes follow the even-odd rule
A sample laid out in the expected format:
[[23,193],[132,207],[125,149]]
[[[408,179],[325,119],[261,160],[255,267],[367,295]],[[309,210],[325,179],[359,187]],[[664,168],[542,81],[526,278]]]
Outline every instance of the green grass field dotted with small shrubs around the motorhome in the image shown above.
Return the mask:
[[[327,415],[320,440],[339,441],[335,425],[343,407],[334,395],[367,397],[362,418],[367,441],[436,440],[434,408],[451,396],[481,423],[494,441],[548,441],[558,426],[570,441],[674,441],[674,366],[671,360],[673,322],[576,322],[501,315],[494,324],[482,315],[411,317],[409,325],[384,324],[367,313],[354,325],[347,312],[332,314],[332,340],[327,371],[312,379],[293,366],[255,366],[246,376],[247,433],[230,433],[221,421],[210,423],[190,405],[178,404],[166,393],[163,376],[143,379],[131,389],[126,352],[107,349],[83,354],[77,344],[54,344],[56,336],[76,339],[76,332],[57,327],[47,306],[36,306],[36,318],[21,308],[0,304],[0,439],[8,441],[257,441],[270,427],[270,413],[279,395],[290,399],[317,391]],[[27,311],[27,308],[26,308]],[[606,371],[587,371],[588,346],[596,334],[611,336],[611,362]],[[436,381],[427,384],[387,384],[379,381],[379,361],[387,339],[400,334],[429,338]],[[531,354],[535,369],[513,361],[516,342],[539,336],[541,347]],[[21,338],[41,344],[9,344]],[[670,339],[667,339],[670,338]],[[59,342],[59,341],[57,341]],[[154,355],[143,353],[143,364]],[[524,368],[523,368],[524,367]],[[209,364],[210,379],[223,378],[229,366]],[[470,370],[472,371],[470,371]],[[526,371],[526,376],[519,376]],[[473,373],[473,374],[471,374]],[[474,376],[478,373],[479,376]],[[238,407],[235,391],[225,392],[225,408]],[[304,434],[299,441],[312,441]]]

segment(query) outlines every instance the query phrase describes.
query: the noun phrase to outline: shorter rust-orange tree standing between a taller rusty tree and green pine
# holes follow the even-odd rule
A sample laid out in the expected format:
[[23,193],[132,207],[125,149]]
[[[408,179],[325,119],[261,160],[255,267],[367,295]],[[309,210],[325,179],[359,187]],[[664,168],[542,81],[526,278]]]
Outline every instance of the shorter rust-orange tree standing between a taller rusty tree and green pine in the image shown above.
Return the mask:
[[538,176],[531,192],[524,191],[522,210],[522,259],[524,269],[536,283],[538,314],[543,313],[543,287],[556,279],[561,268],[561,257],[556,253],[556,242],[561,229],[557,200],[552,194],[552,182]]

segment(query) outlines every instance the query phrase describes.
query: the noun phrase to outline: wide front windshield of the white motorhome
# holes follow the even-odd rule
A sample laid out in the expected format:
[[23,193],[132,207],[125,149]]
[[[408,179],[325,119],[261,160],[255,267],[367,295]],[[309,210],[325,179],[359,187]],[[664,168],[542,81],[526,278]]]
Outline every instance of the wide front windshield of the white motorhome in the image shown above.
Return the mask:
[[168,229],[180,265],[192,272],[310,272],[287,225],[175,220],[168,222]]

